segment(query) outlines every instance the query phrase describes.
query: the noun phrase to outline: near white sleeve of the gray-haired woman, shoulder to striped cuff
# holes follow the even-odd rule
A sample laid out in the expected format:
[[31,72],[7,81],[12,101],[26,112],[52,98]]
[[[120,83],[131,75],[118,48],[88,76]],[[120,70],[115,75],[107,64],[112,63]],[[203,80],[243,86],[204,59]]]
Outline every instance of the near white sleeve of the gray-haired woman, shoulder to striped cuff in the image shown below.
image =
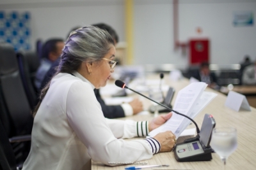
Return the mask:
[[77,81],[71,85],[66,108],[70,126],[88,148],[88,154],[94,161],[115,166],[109,162],[134,162],[152,157],[148,141],[115,138],[88,83]]

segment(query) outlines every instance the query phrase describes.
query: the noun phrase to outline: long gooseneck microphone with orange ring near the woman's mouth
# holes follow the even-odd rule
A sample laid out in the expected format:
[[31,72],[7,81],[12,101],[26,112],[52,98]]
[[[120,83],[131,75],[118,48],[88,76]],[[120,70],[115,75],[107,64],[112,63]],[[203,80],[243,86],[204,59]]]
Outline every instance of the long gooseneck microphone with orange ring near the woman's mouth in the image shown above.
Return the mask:
[[[115,81],[115,85],[116,85],[117,87],[121,87],[122,89],[125,88],[125,89],[132,90],[132,89],[130,89],[129,87],[127,87],[127,86],[125,85],[125,83],[124,83],[123,81],[121,81],[121,80],[116,80],[116,81]],[[199,128],[198,128],[198,125],[196,124],[196,122],[195,122],[192,118],[190,118],[190,117],[188,117],[187,115],[184,115],[184,114],[182,114],[182,113],[179,113],[178,111],[172,110],[171,108],[168,108],[167,106],[164,106],[164,104],[158,103],[157,101],[154,101],[154,100],[150,99],[149,97],[147,97],[147,96],[145,96],[145,95],[143,95],[143,94],[141,94],[141,93],[139,93],[139,92],[136,92],[135,90],[132,90],[132,92],[135,92],[136,94],[140,94],[140,96],[143,96],[143,97],[147,98],[148,100],[150,100],[150,101],[152,101],[152,102],[154,102],[154,103],[157,103],[157,104],[163,106],[164,108],[166,108],[166,109],[168,109],[168,110],[170,110],[170,111],[173,111],[174,113],[177,113],[178,115],[181,115],[182,117],[188,118],[189,120],[191,120],[191,122],[193,122],[193,123],[195,124],[197,136],[199,136],[200,130],[199,130]]]

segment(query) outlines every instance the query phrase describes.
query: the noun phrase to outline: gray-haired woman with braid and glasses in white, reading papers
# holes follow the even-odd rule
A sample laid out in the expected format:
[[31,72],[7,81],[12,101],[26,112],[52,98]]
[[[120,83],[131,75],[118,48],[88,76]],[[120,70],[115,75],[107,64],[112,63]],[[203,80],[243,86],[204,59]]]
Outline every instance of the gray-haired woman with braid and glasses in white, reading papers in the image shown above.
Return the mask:
[[[23,169],[89,169],[90,160],[109,166],[150,159],[169,152],[175,135],[147,136],[172,113],[147,122],[104,118],[93,89],[106,85],[116,62],[114,41],[97,27],[83,27],[68,37],[58,71],[42,90],[35,108],[31,150]],[[127,156],[129,155],[129,156]]]

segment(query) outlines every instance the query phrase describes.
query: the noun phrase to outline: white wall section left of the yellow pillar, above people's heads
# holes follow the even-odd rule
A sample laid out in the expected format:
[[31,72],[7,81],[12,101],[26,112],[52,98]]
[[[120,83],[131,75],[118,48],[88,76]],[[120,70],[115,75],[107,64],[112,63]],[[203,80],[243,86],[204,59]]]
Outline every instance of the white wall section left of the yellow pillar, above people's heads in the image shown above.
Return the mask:
[[35,49],[36,39],[45,41],[52,37],[67,38],[72,28],[99,22],[113,26],[120,40],[124,41],[122,1],[0,0],[0,10],[30,12],[33,49]]

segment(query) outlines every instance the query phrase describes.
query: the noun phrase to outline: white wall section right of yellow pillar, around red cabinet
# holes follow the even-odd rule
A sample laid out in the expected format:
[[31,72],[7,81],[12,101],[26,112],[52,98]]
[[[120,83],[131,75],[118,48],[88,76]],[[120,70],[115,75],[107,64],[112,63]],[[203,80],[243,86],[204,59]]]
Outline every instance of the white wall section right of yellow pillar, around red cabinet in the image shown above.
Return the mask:
[[[134,10],[134,56],[142,64],[188,65],[189,53],[174,50],[173,2],[137,0]],[[212,64],[237,64],[248,54],[256,59],[256,23],[250,27],[232,25],[234,11],[253,11],[256,1],[179,1],[179,40],[210,39]],[[202,28],[202,34],[196,28]]]

